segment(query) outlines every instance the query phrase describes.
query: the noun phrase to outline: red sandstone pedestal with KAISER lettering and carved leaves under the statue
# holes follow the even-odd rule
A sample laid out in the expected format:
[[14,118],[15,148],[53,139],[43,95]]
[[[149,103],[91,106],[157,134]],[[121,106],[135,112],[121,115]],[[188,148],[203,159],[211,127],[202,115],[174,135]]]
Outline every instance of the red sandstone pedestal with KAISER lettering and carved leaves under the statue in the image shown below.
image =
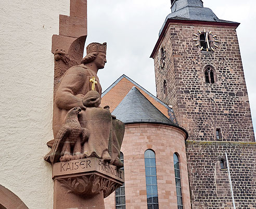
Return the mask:
[[97,158],[53,164],[54,209],[105,209],[104,198],[122,186],[124,173]]

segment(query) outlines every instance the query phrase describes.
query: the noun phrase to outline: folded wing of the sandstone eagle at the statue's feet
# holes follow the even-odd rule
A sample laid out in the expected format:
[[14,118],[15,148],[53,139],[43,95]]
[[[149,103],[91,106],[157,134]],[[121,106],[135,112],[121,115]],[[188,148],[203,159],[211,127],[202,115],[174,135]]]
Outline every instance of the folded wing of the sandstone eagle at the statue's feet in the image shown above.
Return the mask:
[[47,162],[57,163],[60,159],[61,151],[65,139],[70,134],[71,128],[68,125],[63,125],[56,136],[52,150],[44,157]]

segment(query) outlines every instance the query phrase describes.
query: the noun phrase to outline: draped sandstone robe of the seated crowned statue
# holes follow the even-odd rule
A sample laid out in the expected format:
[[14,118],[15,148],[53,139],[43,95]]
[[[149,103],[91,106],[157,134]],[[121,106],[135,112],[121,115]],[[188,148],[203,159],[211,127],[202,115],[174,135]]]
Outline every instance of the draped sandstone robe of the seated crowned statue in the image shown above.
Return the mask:
[[[124,136],[124,124],[111,116],[109,109],[86,107],[83,109],[84,95],[92,89],[89,80],[95,77],[95,90],[101,97],[101,86],[98,76],[84,64],[73,66],[63,74],[56,90],[54,99],[53,131],[56,137],[58,130],[65,123],[68,111],[74,107],[81,107],[79,122],[89,130],[89,138],[84,143],[82,153],[87,157],[102,158],[104,152],[111,156],[111,163],[120,162],[120,149]],[[117,164],[120,166],[120,163]]]

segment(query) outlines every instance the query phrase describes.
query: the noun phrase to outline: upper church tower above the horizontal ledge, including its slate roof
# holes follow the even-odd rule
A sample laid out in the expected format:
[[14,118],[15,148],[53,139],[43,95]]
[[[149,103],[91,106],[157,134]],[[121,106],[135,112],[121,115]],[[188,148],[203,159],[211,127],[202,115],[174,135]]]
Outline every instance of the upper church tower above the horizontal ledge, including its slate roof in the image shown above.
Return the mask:
[[151,55],[157,97],[173,106],[190,139],[254,141],[239,23],[220,20],[201,0],[171,3]]

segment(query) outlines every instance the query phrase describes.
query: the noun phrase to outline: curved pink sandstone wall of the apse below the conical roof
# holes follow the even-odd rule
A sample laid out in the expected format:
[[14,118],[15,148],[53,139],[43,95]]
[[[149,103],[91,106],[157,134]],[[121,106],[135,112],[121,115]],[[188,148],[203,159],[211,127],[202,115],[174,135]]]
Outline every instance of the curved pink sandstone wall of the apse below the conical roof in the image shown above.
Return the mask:
[[[156,153],[159,208],[176,209],[173,154],[180,157],[184,208],[190,208],[185,149],[186,134],[161,124],[127,124],[121,151],[124,155],[125,203],[129,209],[147,209],[144,153]],[[115,194],[105,199],[106,209],[115,207]]]

